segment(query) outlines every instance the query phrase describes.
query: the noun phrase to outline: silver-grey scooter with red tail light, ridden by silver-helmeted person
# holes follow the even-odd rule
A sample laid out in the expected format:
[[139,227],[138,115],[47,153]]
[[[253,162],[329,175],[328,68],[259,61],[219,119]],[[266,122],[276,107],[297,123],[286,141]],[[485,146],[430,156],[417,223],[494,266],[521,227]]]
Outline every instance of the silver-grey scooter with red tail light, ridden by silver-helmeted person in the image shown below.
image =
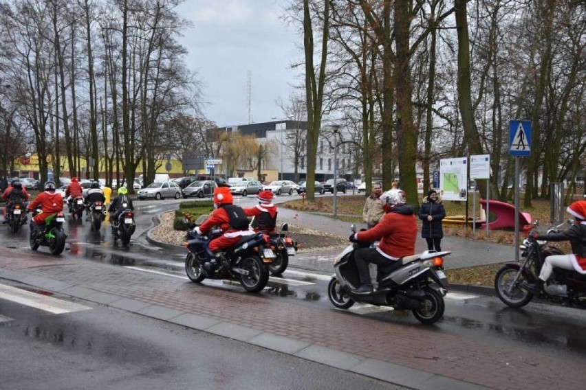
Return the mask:
[[[356,227],[352,225],[353,232]],[[444,274],[444,257],[451,252],[425,251],[396,260],[399,268],[378,266],[376,289],[368,293],[353,292],[360,285],[354,251],[371,243],[355,242],[334,260],[335,275],[327,286],[327,296],[336,308],[348,309],[355,302],[391,306],[395,310],[411,310],[415,318],[426,324],[435,323],[444,315],[444,296],[448,282]],[[390,272],[389,272],[390,271]],[[434,286],[435,285],[437,286]]]

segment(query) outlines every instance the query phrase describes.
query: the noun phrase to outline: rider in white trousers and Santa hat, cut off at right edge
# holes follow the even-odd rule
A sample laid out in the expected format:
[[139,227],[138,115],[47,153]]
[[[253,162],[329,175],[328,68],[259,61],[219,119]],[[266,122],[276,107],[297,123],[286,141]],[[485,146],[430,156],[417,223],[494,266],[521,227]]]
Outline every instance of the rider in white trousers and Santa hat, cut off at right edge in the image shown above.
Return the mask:
[[[543,285],[552,275],[554,267],[563,268],[567,271],[575,271],[582,275],[586,274],[586,200],[578,200],[569,205],[566,211],[574,216],[574,224],[569,229],[558,233],[539,234],[536,231],[530,233],[534,240],[545,241],[569,241],[572,246],[572,253],[568,255],[551,255],[545,257],[541,272],[535,284],[525,284],[528,290],[542,292]],[[550,285],[545,287],[545,292],[550,295],[558,295],[557,291],[563,291],[561,286]]]

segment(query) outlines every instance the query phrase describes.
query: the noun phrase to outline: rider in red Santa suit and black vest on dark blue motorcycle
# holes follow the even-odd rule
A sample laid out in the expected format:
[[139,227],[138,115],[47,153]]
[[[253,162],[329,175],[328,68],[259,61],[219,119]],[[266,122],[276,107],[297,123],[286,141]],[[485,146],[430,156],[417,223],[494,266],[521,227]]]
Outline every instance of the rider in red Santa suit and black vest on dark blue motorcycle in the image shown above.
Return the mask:
[[228,265],[221,252],[237,244],[243,236],[254,235],[254,231],[248,228],[248,218],[244,210],[233,203],[234,198],[230,194],[230,187],[217,187],[214,190],[215,210],[202,225],[193,229],[197,234],[202,235],[217,225],[224,232],[218,238],[211,240],[208,245],[210,262],[204,264],[208,269],[215,268],[216,260],[223,263],[223,266]]

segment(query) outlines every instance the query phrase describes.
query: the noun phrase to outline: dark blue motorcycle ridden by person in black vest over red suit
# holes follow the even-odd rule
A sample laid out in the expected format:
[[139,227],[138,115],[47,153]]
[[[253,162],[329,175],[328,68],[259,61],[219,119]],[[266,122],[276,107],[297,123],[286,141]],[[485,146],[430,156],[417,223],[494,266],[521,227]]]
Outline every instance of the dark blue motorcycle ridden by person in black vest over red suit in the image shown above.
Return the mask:
[[200,216],[187,232],[187,241],[184,243],[188,249],[185,258],[187,277],[194,283],[200,283],[206,278],[236,280],[248,292],[263,290],[269,277],[265,262],[271,261],[270,257],[265,255],[272,255],[270,249],[264,248],[268,243],[268,236],[262,232],[243,236],[235,246],[224,253],[219,262],[214,261],[217,259],[210,261],[208,244],[210,240],[221,236],[222,231],[212,229],[202,236],[193,231],[193,228],[201,225],[206,218],[207,215]]

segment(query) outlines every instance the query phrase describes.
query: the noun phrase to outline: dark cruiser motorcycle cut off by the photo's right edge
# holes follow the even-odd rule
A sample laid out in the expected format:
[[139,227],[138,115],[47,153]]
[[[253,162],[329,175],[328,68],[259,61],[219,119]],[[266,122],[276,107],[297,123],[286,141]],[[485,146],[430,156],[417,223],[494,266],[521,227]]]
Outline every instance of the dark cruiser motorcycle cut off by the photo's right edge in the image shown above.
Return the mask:
[[[547,233],[557,232],[566,224],[572,225],[572,220],[548,229]],[[532,229],[537,226],[539,221],[534,222]],[[533,299],[535,292],[525,288],[524,284],[537,281],[545,257],[564,254],[561,249],[551,246],[547,241],[534,240],[530,232],[527,229],[525,231],[528,232],[527,236],[519,245],[523,262],[506,263],[495,276],[497,297],[512,308],[521,308]],[[540,295],[553,303],[586,309],[586,275],[554,267],[552,276]]]

